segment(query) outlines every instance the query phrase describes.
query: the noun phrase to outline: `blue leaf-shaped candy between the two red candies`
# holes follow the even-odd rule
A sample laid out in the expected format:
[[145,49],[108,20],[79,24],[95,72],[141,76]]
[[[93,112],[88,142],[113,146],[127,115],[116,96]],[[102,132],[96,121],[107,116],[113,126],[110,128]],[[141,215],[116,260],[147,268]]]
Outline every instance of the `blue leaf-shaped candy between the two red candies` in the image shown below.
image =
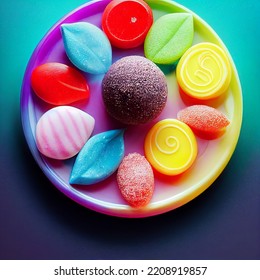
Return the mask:
[[80,70],[106,73],[112,63],[112,49],[105,33],[88,22],[61,25],[67,56]]

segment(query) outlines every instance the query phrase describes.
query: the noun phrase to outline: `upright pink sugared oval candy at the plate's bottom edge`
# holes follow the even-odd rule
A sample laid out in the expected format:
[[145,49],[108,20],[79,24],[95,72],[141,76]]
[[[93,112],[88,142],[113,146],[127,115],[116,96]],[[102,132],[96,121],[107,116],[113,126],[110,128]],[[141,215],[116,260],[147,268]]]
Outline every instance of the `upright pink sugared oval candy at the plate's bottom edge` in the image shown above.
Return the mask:
[[154,174],[146,158],[138,153],[124,157],[117,172],[117,183],[124,199],[132,207],[149,203],[154,191]]

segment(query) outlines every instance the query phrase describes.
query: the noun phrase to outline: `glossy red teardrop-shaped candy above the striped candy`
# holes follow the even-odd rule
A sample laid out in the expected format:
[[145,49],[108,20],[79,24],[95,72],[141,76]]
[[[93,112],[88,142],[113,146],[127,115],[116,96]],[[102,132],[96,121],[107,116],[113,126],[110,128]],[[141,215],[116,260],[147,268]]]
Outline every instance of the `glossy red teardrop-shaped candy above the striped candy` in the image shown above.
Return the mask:
[[66,105],[89,97],[83,74],[62,63],[49,62],[36,67],[31,86],[36,95],[53,105]]

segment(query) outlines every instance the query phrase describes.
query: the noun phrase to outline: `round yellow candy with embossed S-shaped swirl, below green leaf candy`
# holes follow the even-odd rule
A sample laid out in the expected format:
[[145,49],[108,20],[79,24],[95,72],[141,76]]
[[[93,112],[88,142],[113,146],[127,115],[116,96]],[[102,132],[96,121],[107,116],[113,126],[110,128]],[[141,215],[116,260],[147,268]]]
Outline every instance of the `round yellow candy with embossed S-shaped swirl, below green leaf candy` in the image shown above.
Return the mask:
[[224,93],[231,80],[226,53],[212,43],[199,43],[188,49],[176,69],[177,82],[189,96],[201,100]]

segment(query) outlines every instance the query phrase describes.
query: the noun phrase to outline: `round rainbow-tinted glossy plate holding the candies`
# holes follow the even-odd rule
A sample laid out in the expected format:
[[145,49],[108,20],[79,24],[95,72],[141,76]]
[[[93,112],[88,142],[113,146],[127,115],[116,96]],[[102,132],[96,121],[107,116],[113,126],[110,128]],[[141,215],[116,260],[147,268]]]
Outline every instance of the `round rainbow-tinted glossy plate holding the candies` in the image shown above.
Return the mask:
[[[155,192],[151,202],[144,208],[135,209],[127,205],[119,192],[116,174],[92,186],[70,185],[69,176],[75,157],[66,161],[58,161],[44,157],[37,150],[35,142],[37,121],[52,106],[44,103],[34,94],[30,86],[30,77],[35,67],[46,62],[61,62],[71,65],[65,54],[60,25],[63,23],[87,21],[101,28],[102,12],[109,2],[109,0],[92,1],[74,10],[60,20],[35,49],[25,72],[21,92],[21,116],[24,134],[36,162],[45,175],[61,192],[77,203],[89,209],[113,216],[136,218],[157,215],[175,209],[194,199],[213,183],[227,165],[235,149],[242,121],[240,82],[233,60],[223,42],[201,18],[172,1],[146,1],[153,9],[154,19],[173,12],[193,14],[195,29],[193,44],[208,41],[221,46],[226,51],[232,64],[232,80],[228,92],[221,102],[218,101],[218,103],[211,105],[224,112],[231,123],[220,138],[203,140],[197,137],[198,157],[188,171],[174,177],[155,174]],[[133,54],[143,55],[143,47],[131,50],[113,48],[113,62],[123,56]],[[152,123],[127,128],[124,135],[125,154],[130,152],[144,154],[144,138],[154,123],[165,118],[176,118],[177,112],[187,107],[187,104],[180,97],[175,71],[166,72],[165,75],[169,88],[167,105],[162,114]],[[106,113],[101,98],[103,75],[84,75],[90,85],[90,99],[87,102],[79,102],[72,105],[88,112],[96,119],[93,134],[124,127],[122,124],[113,121]]]

